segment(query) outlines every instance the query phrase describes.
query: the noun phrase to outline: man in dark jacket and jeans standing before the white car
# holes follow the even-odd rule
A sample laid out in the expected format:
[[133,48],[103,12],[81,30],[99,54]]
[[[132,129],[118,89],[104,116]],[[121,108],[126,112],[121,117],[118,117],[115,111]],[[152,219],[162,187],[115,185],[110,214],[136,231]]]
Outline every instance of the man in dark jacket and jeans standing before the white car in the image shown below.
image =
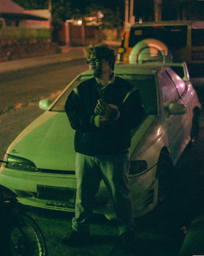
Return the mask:
[[115,76],[115,52],[106,44],[90,45],[85,57],[93,78],[75,88],[65,111],[75,132],[77,194],[72,231],[62,239],[78,245],[90,235],[89,219],[101,179],[113,197],[123,240],[133,237],[134,223],[128,185],[130,130],[144,109],[137,88]]

